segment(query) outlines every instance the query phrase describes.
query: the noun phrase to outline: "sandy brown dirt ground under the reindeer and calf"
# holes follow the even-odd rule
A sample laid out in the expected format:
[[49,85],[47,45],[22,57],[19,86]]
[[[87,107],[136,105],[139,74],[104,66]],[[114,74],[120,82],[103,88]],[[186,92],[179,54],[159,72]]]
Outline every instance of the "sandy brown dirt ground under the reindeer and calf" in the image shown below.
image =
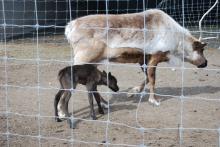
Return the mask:
[[[112,94],[99,87],[110,109],[91,121],[87,93],[78,86],[69,109],[79,121],[76,129],[69,129],[66,121],[57,123],[53,118],[57,73],[71,64],[71,50],[63,38],[40,37],[38,44],[33,38],[7,42],[6,64],[5,46],[0,44],[1,147],[37,147],[39,143],[42,147],[97,147],[106,141],[109,146],[175,147],[180,142],[184,147],[220,146],[219,50],[205,51],[206,69],[186,63],[184,71],[178,67],[173,71],[164,68],[168,64],[160,64],[156,78],[156,93],[162,99],[159,107],[148,103],[147,94],[127,93],[144,79],[137,64],[99,66],[117,77],[120,92]],[[184,99],[180,99],[182,92]]]

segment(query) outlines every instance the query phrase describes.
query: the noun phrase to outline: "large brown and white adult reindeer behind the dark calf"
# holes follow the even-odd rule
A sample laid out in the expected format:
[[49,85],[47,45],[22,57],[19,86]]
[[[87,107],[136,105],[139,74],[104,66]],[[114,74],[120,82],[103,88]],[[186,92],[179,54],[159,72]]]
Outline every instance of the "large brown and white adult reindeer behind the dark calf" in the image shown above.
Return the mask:
[[[177,63],[184,59],[197,67],[207,66],[203,55],[206,44],[157,9],[133,14],[81,17],[69,22],[65,35],[73,48],[74,64],[103,60],[139,63],[135,61],[135,55],[152,55],[147,61],[146,74],[150,87],[149,101],[155,105],[159,105],[154,95],[158,63]],[[137,90],[143,90],[143,84]]]

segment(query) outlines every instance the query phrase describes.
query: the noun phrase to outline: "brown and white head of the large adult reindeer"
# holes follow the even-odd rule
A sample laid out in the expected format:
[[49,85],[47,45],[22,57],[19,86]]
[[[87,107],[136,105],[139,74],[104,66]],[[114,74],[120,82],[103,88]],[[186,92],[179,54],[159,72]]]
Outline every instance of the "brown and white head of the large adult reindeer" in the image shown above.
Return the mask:
[[206,60],[203,51],[207,44],[200,41],[192,42],[192,50],[185,53],[185,60],[196,65],[198,68],[204,68],[207,66],[208,61]]

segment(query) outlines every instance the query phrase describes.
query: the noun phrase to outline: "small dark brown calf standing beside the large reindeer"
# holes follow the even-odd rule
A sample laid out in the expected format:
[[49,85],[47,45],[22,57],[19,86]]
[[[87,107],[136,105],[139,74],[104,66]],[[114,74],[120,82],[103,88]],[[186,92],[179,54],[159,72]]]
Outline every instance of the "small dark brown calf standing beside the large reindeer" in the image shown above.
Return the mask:
[[[55,120],[61,121],[58,115],[59,111],[65,114],[64,117],[70,117],[68,112],[68,102],[71,97],[71,89],[75,89],[77,84],[85,85],[88,90],[88,98],[90,104],[90,116],[96,119],[93,96],[98,105],[99,113],[104,114],[100,101],[107,103],[97,92],[97,85],[107,85],[111,90],[118,91],[116,78],[111,75],[111,72],[101,72],[97,67],[89,64],[68,66],[59,71],[58,79],[61,89],[56,94],[54,99]],[[58,110],[59,109],[59,110]]]

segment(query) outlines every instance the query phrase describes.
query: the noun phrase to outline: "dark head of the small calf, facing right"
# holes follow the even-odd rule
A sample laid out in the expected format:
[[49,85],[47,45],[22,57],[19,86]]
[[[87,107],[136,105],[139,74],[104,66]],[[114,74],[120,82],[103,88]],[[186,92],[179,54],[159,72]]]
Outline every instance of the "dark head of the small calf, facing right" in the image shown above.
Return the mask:
[[109,72],[107,75],[107,73],[103,70],[102,82],[104,85],[108,85],[108,87],[114,92],[119,90],[118,85],[117,85],[117,79],[111,74],[111,72]]

